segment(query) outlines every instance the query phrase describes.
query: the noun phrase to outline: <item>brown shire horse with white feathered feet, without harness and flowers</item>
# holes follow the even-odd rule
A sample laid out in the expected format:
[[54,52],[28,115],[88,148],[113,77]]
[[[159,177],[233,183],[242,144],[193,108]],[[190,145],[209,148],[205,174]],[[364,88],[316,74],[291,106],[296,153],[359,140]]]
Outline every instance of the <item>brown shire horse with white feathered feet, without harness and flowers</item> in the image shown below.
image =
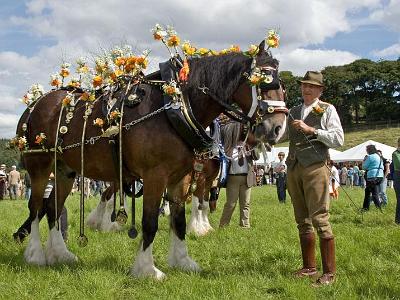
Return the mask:
[[[264,49],[264,41],[260,44],[260,51],[255,57],[256,66],[264,69],[277,69],[278,61]],[[286,126],[287,109],[271,112],[269,103],[284,100],[281,88],[260,89],[261,97],[257,101],[254,87],[248,81],[254,64],[253,59],[242,53],[229,53],[221,56],[193,58],[189,60],[190,75],[183,86],[197,122],[206,128],[225,110],[224,106],[235,103],[244,113],[253,111],[248,117],[253,123],[252,131],[255,138],[261,142],[275,144],[282,136]],[[274,73],[277,77],[277,72]],[[246,75],[246,76],[245,76]],[[136,106],[127,107],[121,122],[127,124],[133,120],[149,116],[163,107],[163,92],[159,86],[146,82],[139,84],[144,91],[142,102]],[[253,92],[253,93],[252,93]],[[17,135],[25,135],[31,149],[35,146],[35,136],[44,132],[48,145],[55,145],[57,123],[61,110],[62,100],[67,91],[54,90],[45,94],[32,112],[26,110],[17,127]],[[75,91],[77,97],[81,92]],[[255,100],[256,98],[256,100]],[[254,113],[254,100],[257,106]],[[271,101],[270,101],[271,100]],[[279,101],[280,103],[282,103]],[[272,104],[271,104],[272,105]],[[82,139],[83,116],[85,103],[79,101],[75,106],[74,117],[69,123],[69,132],[63,135],[63,146],[79,143]],[[101,103],[95,103],[92,114],[88,116],[88,123],[93,124],[95,118],[100,117]],[[29,116],[29,118],[28,118]],[[258,122],[256,123],[256,119]],[[24,129],[26,129],[24,131]],[[88,126],[86,137],[101,134],[100,128]],[[128,180],[142,178],[143,214],[142,239],[139,243],[136,258],[130,269],[135,277],[150,276],[156,279],[164,278],[165,274],[154,264],[153,241],[158,230],[158,213],[162,194],[167,189],[170,202],[170,241],[168,263],[171,267],[186,271],[198,272],[200,267],[189,256],[185,243],[186,220],[184,201],[189,190],[195,153],[193,148],[178,135],[171,126],[165,112],[154,113],[143,122],[131,128],[122,130],[122,159],[123,177]],[[31,232],[30,240],[25,250],[25,260],[30,264],[53,265],[77,261],[77,257],[65,246],[56,216],[60,216],[64,201],[67,198],[74,178],[81,171],[80,147],[64,148],[57,154],[55,162],[54,152],[26,152],[22,159],[32,180],[32,195],[29,200],[29,217],[24,223]],[[87,143],[84,148],[84,173],[89,178],[103,181],[118,181],[119,174],[114,167],[114,161],[108,139],[98,139]],[[57,202],[49,204],[46,214],[49,225],[49,238],[45,250],[40,242],[39,218],[43,216],[43,192],[50,172],[56,163]],[[55,205],[57,204],[57,205]],[[57,210],[56,210],[57,208]],[[20,228],[20,230],[21,230]],[[16,233],[17,235],[20,230]]]

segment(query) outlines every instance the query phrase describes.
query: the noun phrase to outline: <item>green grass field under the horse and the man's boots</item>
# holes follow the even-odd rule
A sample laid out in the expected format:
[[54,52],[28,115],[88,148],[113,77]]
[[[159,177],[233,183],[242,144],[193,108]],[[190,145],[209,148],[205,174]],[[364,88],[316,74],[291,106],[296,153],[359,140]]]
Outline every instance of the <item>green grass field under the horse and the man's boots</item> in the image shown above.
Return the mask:
[[[1,201],[0,299],[400,299],[400,227],[393,222],[394,192],[388,189],[389,205],[383,214],[371,207],[361,217],[356,207],[361,207],[363,191],[347,191],[352,200],[342,190],[331,209],[337,282],[319,289],[312,288],[308,279],[291,276],[301,265],[297,229],[290,202],[278,204],[275,186],[253,188],[251,229],[239,228],[235,211],[229,227],[205,237],[187,237],[190,255],[203,268],[199,274],[168,267],[168,221],[161,217],[154,259],[167,275],[162,282],[127,275],[139,239],[129,239],[126,231],[86,229],[89,244],[85,248],[77,245],[78,196],[67,200],[67,246],[80,261],[72,266],[26,265],[27,242],[21,245],[12,240],[12,233],[27,216],[26,202]],[[223,190],[218,210],[210,216],[214,228],[224,202]],[[86,209],[96,204],[97,199],[89,199]],[[138,209],[139,220],[140,216]],[[46,222],[41,229],[44,242]]]

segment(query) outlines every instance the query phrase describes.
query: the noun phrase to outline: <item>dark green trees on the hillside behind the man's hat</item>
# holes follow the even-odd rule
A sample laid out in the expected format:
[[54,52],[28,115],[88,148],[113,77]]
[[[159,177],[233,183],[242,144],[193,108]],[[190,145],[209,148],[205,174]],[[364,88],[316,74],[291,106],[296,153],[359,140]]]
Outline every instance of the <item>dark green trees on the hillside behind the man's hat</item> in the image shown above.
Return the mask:
[[[359,59],[322,70],[322,100],[335,105],[342,124],[350,127],[382,120],[400,120],[400,58],[378,62]],[[280,72],[290,107],[301,103],[298,80],[290,71]]]

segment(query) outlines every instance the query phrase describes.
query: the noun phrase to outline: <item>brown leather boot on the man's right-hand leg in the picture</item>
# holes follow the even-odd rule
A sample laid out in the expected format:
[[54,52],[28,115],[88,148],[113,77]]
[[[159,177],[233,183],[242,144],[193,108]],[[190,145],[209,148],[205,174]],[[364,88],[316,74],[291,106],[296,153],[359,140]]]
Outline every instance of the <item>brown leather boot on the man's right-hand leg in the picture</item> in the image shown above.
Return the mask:
[[336,258],[334,238],[320,238],[321,260],[323,274],[315,283],[315,286],[329,285],[335,281]]

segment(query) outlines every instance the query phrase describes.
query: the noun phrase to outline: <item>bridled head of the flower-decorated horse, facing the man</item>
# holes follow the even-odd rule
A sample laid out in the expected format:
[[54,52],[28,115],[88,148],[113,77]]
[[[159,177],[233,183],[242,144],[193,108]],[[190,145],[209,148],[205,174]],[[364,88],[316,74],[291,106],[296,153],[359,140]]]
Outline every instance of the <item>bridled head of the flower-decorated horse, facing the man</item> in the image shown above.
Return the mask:
[[250,117],[255,138],[271,145],[276,144],[285,132],[288,113],[278,67],[279,62],[265,50],[265,41],[262,41],[247,77],[256,73],[266,79],[257,86],[247,81],[233,95],[234,101]]

